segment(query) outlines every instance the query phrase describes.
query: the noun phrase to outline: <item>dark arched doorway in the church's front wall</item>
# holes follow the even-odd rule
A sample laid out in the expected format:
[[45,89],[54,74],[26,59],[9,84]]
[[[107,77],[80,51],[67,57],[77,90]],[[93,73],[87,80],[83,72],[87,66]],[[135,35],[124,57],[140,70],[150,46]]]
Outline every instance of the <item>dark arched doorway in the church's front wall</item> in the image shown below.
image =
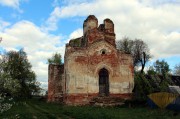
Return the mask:
[[99,71],[99,96],[109,95],[109,73],[105,68]]

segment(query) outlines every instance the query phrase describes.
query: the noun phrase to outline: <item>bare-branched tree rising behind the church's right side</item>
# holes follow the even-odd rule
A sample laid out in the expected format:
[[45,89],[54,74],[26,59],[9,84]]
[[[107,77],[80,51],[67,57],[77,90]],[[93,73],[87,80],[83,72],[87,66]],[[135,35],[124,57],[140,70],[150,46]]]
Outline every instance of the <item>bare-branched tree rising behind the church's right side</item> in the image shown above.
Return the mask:
[[124,37],[117,42],[117,48],[133,56],[134,66],[141,66],[141,73],[144,72],[146,63],[151,58],[148,45],[141,39],[130,40]]

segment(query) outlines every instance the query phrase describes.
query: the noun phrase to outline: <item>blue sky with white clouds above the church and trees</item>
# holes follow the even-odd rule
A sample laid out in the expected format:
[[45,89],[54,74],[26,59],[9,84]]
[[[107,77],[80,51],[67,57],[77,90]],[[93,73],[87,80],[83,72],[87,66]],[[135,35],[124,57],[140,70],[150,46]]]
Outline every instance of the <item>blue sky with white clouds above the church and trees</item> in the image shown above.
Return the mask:
[[99,24],[110,18],[116,40],[142,39],[151,62],[164,59],[171,69],[180,63],[180,0],[0,0],[0,52],[23,48],[47,89],[47,58],[64,57],[65,44],[82,36],[88,15]]

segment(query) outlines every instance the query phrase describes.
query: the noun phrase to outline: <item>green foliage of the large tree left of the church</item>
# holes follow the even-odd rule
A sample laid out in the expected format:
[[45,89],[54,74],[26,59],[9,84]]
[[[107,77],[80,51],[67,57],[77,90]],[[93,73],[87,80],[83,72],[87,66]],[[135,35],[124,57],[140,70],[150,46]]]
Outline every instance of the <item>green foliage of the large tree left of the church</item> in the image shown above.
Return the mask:
[[7,52],[2,58],[1,66],[0,82],[4,84],[3,91],[9,95],[15,96],[16,92],[16,97],[29,97],[40,89],[39,85],[36,85],[36,75],[31,70],[32,66],[22,49],[18,52]]

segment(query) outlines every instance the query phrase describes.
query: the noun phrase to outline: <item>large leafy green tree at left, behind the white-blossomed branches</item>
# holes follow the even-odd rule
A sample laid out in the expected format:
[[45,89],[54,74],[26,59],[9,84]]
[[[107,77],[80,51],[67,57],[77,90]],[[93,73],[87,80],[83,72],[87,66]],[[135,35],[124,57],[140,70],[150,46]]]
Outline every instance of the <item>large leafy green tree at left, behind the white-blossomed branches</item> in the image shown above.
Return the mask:
[[36,85],[36,75],[31,70],[32,66],[23,49],[18,52],[7,52],[2,58],[2,66],[2,72],[5,72],[9,79],[20,84],[17,96],[29,97],[37,91],[37,88],[40,89],[39,85]]

